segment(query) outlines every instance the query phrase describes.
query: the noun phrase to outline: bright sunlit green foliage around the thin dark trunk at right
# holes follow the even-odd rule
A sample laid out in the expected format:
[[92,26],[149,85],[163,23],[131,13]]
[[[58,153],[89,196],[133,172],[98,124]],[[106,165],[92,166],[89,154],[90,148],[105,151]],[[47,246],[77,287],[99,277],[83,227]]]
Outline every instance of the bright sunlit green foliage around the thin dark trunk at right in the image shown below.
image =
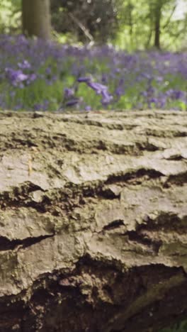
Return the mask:
[[128,0],[119,13],[120,30],[115,45],[128,50],[143,50],[154,45],[154,20],[157,4],[161,5],[161,45],[164,49],[186,47],[187,14],[174,19],[175,0]]

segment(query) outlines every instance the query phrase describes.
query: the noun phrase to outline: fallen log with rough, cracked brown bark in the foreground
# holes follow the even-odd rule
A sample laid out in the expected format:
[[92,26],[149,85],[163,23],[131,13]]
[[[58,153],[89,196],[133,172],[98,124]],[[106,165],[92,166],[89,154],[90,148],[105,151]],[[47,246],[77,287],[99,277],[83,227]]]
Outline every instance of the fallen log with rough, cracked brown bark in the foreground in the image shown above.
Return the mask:
[[187,314],[184,112],[0,114],[0,331]]

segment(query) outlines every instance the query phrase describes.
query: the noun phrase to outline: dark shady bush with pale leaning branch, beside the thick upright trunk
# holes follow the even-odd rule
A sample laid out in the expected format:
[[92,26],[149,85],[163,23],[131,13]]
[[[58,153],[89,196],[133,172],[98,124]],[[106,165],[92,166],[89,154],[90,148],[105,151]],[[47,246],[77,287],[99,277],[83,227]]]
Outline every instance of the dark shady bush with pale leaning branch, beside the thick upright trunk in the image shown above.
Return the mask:
[[81,42],[107,43],[120,28],[124,0],[52,0],[52,24],[58,33],[71,33]]

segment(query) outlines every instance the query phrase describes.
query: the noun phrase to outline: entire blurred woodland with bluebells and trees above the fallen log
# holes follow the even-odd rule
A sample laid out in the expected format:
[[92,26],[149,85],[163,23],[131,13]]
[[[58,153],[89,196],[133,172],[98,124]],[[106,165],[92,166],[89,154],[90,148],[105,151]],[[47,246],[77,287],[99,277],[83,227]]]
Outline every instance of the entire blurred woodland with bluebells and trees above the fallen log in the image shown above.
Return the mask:
[[186,7],[2,0],[0,108],[186,110]]

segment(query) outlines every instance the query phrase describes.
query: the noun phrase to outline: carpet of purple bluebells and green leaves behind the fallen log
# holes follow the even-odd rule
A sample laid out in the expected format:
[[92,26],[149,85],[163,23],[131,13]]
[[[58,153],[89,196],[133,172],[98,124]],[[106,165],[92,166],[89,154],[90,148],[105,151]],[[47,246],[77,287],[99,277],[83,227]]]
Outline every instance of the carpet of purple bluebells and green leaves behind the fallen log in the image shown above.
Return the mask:
[[79,48],[0,35],[0,109],[187,108],[187,53]]

